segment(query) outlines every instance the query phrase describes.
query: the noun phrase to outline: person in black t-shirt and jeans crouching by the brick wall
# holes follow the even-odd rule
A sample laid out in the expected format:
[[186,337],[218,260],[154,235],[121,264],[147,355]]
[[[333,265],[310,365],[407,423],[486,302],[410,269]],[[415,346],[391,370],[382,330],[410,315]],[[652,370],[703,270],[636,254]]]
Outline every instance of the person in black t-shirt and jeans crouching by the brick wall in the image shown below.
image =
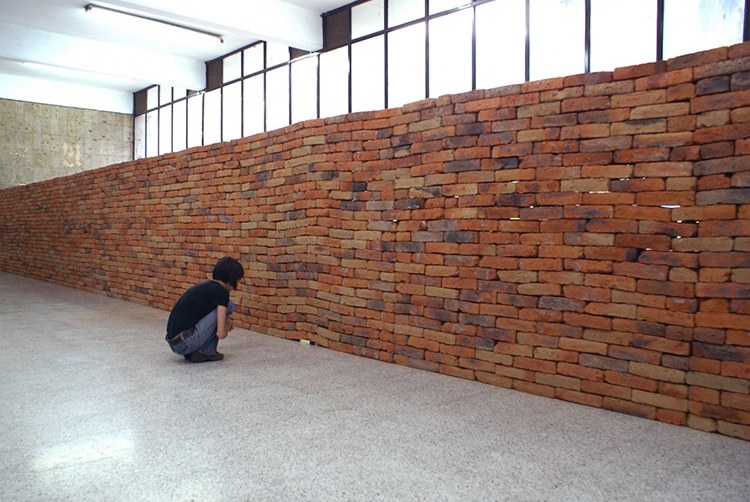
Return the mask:
[[193,363],[224,358],[217,348],[233,328],[230,316],[235,305],[229,294],[244,275],[242,264],[226,256],[216,263],[213,279],[182,294],[167,321],[166,340],[172,352]]

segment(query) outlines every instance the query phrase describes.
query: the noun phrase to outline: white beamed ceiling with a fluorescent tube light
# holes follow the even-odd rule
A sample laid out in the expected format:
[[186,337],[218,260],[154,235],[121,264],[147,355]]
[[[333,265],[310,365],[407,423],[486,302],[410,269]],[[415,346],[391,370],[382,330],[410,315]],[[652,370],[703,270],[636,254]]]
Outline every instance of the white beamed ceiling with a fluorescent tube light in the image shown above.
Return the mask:
[[[130,113],[134,91],[202,89],[206,61],[257,40],[320,49],[321,14],[351,1],[0,0],[0,98]],[[224,43],[174,43],[164,25],[115,25],[86,12],[88,3],[217,33]]]

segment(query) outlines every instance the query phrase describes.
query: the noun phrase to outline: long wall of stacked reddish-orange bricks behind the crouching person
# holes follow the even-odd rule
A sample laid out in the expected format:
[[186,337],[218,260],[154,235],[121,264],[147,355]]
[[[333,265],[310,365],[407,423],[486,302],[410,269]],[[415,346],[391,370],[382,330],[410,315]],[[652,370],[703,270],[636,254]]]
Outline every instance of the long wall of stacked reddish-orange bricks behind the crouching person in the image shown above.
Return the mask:
[[750,439],[750,44],[0,193],[12,273]]

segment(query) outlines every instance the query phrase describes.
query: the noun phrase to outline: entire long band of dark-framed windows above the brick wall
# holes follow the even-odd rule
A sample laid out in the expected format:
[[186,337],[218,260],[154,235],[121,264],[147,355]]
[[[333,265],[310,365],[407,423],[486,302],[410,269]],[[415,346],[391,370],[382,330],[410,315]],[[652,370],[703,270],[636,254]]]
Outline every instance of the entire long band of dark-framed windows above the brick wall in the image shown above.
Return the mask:
[[[748,0],[354,0],[325,49],[256,42],[206,63],[201,92],[134,95],[135,158],[290,122],[608,71],[739,43]],[[658,23],[662,22],[661,26]]]

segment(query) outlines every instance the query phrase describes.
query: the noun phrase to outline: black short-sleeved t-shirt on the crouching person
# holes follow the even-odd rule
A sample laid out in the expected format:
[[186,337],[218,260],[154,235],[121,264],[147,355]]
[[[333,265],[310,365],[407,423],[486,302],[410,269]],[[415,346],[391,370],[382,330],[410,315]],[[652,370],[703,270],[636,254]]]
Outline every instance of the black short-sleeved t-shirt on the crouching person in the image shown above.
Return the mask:
[[216,309],[229,306],[229,291],[216,281],[206,281],[191,287],[177,300],[167,321],[167,339],[173,338]]

